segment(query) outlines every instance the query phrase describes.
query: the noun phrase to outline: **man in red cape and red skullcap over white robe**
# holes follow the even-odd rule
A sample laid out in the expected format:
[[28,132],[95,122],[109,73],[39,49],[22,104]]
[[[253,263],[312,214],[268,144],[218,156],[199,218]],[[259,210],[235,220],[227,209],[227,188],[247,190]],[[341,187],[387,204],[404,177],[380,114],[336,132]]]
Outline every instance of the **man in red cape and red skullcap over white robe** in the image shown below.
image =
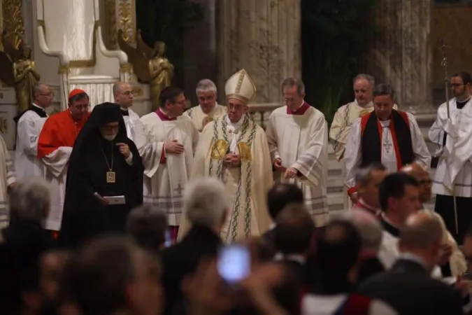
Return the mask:
[[69,158],[89,115],[87,93],[72,90],[69,93],[69,107],[48,118],[39,134],[38,159],[45,165],[45,179],[51,183],[52,189],[50,213],[45,221],[47,230],[61,230]]

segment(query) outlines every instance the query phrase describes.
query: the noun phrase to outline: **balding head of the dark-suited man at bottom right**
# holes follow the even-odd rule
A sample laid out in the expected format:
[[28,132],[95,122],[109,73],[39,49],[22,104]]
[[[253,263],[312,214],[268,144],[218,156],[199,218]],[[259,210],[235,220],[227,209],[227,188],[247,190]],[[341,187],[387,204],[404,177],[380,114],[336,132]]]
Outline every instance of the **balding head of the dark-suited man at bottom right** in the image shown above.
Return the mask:
[[417,212],[407,218],[399,247],[402,252],[420,255],[432,269],[438,262],[442,241],[441,223],[429,214]]

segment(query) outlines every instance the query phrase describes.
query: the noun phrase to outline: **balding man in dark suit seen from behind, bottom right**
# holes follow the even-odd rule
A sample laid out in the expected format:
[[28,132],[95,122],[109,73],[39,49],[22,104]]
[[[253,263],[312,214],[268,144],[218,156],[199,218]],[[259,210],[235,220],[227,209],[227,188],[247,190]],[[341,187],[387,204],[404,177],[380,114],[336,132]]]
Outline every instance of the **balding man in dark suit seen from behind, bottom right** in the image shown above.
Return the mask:
[[411,215],[401,231],[400,258],[388,272],[367,280],[359,292],[384,300],[402,315],[463,314],[459,290],[431,278],[442,237],[441,225],[434,218]]

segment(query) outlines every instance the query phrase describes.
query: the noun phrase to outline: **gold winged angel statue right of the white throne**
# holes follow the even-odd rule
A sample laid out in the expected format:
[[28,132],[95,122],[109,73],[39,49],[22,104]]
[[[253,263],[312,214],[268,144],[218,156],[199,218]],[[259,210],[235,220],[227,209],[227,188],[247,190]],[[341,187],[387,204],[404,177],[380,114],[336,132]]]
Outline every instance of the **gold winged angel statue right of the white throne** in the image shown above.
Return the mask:
[[152,109],[159,107],[159,96],[164,87],[171,85],[173,64],[166,58],[166,44],[157,41],[154,48],[143,42],[141,31],[136,36],[136,48],[131,47],[124,39],[123,31],[118,31],[118,44],[127,53],[129,62],[133,64],[134,74],[143,83],[149,83]]

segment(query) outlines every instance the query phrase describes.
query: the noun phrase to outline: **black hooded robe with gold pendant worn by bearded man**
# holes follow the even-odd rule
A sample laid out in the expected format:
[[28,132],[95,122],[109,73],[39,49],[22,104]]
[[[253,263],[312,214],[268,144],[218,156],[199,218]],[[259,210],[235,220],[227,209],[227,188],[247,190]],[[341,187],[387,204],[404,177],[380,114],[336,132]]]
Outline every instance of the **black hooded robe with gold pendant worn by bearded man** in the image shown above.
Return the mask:
[[[111,122],[119,123],[119,132],[115,140],[107,141],[99,126]],[[129,146],[131,165],[116,146],[120,142]],[[59,245],[76,248],[103,233],[124,232],[129,211],[143,203],[143,171],[138,149],[127,138],[120,107],[111,103],[95,106],[69,160]],[[124,196],[126,203],[104,205],[95,193]]]

